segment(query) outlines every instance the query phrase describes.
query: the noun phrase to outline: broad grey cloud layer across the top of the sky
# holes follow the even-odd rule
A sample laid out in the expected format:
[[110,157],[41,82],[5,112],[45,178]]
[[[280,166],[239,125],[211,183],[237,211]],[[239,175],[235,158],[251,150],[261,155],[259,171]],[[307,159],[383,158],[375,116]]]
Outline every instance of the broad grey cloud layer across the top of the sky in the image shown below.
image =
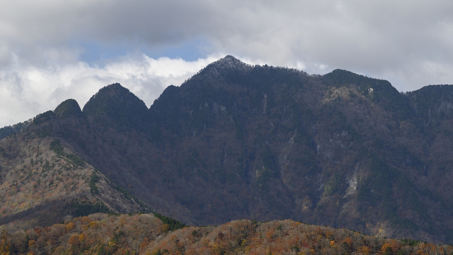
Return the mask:
[[215,44],[213,51],[279,65],[302,61],[376,71],[452,55],[453,3],[448,1],[98,0],[8,5],[1,13],[2,27],[7,28],[2,38],[19,46],[35,45],[39,52],[73,41],[153,47],[203,37]]

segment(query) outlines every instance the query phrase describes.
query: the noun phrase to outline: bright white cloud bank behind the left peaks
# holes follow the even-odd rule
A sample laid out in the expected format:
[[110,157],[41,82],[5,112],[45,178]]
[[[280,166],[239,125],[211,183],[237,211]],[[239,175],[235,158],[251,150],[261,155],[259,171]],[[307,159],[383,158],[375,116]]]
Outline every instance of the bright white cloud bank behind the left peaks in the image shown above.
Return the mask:
[[83,108],[100,88],[121,83],[149,107],[169,85],[179,86],[207,64],[219,59],[209,56],[196,61],[126,56],[103,67],[85,62],[23,66],[16,58],[8,69],[0,70],[0,126],[24,121],[54,110],[73,98]]

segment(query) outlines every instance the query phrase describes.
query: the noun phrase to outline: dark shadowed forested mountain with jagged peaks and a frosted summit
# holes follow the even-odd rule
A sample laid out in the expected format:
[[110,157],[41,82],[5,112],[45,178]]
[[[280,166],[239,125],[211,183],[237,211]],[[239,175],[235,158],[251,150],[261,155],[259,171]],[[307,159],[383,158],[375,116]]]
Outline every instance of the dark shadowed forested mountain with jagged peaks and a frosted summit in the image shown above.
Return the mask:
[[[10,179],[1,182],[19,180],[38,153],[30,143],[39,143],[43,155],[68,164],[74,155],[108,190],[140,203],[122,212],[149,206],[191,225],[292,219],[451,243],[452,97],[451,85],[400,93],[345,70],[308,75],[227,56],[166,88],[149,109],[112,84],[83,110],[69,99],[24,129],[5,127],[0,160],[14,165],[2,164]],[[85,185],[85,200],[94,199],[91,172],[75,181]]]

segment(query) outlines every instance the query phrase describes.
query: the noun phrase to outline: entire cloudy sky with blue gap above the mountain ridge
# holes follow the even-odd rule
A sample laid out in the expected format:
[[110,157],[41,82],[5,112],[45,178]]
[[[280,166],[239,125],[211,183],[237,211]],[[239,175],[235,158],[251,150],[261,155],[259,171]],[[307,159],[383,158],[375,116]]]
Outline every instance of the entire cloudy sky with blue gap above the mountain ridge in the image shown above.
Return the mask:
[[149,107],[226,55],[453,84],[453,1],[0,0],[0,126],[116,82]]

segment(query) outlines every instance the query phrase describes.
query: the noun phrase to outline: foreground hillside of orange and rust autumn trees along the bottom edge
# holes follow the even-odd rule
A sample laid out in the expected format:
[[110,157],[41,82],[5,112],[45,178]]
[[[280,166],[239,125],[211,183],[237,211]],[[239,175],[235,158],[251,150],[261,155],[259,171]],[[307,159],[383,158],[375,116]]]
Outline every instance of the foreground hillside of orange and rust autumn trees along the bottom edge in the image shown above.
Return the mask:
[[[0,227],[0,230],[2,227]],[[93,214],[45,228],[4,227],[10,254],[450,254],[453,246],[365,236],[292,220],[235,220],[170,231],[149,214]]]

